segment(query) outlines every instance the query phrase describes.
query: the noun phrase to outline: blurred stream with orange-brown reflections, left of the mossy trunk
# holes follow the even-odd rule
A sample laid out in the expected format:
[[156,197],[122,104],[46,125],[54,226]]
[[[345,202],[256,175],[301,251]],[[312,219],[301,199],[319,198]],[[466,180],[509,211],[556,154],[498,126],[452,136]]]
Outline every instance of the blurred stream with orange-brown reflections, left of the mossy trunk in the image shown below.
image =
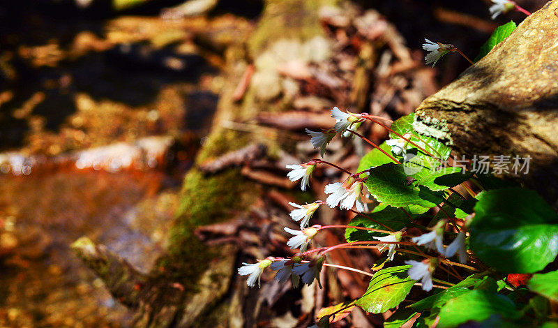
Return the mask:
[[133,313],[69,246],[87,236],[151,269],[217,72],[149,36],[107,45],[109,18],[24,7],[0,10],[0,327],[127,327]]

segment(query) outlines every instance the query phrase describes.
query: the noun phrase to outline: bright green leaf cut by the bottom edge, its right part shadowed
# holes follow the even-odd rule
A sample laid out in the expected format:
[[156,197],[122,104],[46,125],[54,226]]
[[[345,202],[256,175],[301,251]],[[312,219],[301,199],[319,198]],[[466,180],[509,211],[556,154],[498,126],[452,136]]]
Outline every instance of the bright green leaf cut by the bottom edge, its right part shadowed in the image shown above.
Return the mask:
[[458,327],[468,321],[482,322],[491,315],[502,318],[518,318],[520,313],[515,310],[513,301],[504,295],[472,290],[450,299],[439,312],[439,328]]

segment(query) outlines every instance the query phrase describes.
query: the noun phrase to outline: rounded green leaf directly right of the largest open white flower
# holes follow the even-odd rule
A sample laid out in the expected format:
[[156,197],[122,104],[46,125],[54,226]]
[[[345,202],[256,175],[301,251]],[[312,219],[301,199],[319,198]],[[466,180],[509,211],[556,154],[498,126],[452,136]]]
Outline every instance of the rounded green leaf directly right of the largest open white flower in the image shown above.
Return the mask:
[[417,204],[421,207],[434,207],[443,201],[439,194],[428,188],[418,188],[407,184],[407,174],[403,165],[388,163],[370,170],[366,187],[378,202],[393,207]]

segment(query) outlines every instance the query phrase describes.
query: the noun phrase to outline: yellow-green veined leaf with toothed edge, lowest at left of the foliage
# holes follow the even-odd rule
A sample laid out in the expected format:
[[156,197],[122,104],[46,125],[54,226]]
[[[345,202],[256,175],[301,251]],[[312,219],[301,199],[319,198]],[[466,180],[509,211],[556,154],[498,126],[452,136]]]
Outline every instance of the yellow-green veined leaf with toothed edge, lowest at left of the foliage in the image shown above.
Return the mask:
[[402,265],[377,271],[372,276],[368,290],[355,304],[371,313],[384,313],[398,306],[415,283],[407,274],[410,267]]

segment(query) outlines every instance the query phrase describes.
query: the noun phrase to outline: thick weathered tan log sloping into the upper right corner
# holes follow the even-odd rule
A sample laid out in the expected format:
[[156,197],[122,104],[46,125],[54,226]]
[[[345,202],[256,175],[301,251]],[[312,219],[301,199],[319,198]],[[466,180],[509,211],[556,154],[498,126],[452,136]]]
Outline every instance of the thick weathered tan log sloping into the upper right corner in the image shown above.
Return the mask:
[[419,132],[445,138],[469,159],[531,156],[528,174],[507,175],[556,206],[558,0],[527,17],[458,80],[426,98],[416,113]]

